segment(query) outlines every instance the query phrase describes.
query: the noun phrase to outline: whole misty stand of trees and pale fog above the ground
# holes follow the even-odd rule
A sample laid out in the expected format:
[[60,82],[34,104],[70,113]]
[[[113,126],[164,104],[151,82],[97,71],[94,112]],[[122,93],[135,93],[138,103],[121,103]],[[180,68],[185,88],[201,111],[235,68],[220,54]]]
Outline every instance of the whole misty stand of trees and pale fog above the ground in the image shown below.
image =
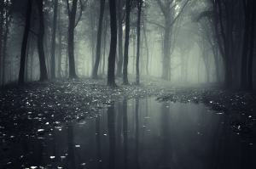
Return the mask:
[[0,0],[0,83],[157,76],[253,90],[253,0]]

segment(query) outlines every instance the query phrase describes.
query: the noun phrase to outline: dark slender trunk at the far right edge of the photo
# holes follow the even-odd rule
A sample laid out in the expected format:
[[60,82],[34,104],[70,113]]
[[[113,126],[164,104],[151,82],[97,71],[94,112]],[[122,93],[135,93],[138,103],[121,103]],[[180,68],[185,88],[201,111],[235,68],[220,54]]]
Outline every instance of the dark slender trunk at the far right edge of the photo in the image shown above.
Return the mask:
[[253,3],[253,12],[251,19],[251,33],[250,33],[250,54],[248,58],[248,85],[247,89],[253,91],[253,47],[254,47],[254,31],[255,31],[255,15],[256,15],[256,4]]

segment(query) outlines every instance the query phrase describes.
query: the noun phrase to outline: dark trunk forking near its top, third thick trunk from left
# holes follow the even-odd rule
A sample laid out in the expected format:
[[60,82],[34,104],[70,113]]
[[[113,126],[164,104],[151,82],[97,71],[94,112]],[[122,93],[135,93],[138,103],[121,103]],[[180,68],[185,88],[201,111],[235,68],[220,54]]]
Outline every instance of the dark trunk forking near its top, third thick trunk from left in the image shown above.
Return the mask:
[[[68,3],[68,2],[67,2]],[[68,61],[69,61],[69,78],[78,78],[75,70],[74,62],[74,28],[75,28],[75,19],[77,13],[78,0],[73,0],[72,10],[69,10],[69,25],[68,25]]]

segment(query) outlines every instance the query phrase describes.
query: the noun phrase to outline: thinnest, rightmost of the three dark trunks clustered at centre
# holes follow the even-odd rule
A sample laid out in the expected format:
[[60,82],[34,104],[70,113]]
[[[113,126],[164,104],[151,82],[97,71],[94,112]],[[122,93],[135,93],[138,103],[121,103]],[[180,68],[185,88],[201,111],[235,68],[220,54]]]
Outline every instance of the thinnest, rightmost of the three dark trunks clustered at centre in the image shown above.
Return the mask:
[[142,12],[142,0],[137,1],[137,59],[136,59],[136,84],[140,84],[140,72],[139,72],[139,61],[140,61],[140,37],[141,37],[141,12]]

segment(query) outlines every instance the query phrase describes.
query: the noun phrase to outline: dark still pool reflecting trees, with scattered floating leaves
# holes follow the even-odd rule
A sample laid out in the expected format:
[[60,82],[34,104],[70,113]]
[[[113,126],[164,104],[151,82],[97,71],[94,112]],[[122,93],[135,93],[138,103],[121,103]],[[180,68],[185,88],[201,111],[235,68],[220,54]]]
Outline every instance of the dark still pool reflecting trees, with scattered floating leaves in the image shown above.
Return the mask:
[[[202,104],[134,99],[6,150],[6,168],[247,169],[256,150]],[[3,157],[1,157],[3,158]],[[9,162],[12,161],[12,162]]]

